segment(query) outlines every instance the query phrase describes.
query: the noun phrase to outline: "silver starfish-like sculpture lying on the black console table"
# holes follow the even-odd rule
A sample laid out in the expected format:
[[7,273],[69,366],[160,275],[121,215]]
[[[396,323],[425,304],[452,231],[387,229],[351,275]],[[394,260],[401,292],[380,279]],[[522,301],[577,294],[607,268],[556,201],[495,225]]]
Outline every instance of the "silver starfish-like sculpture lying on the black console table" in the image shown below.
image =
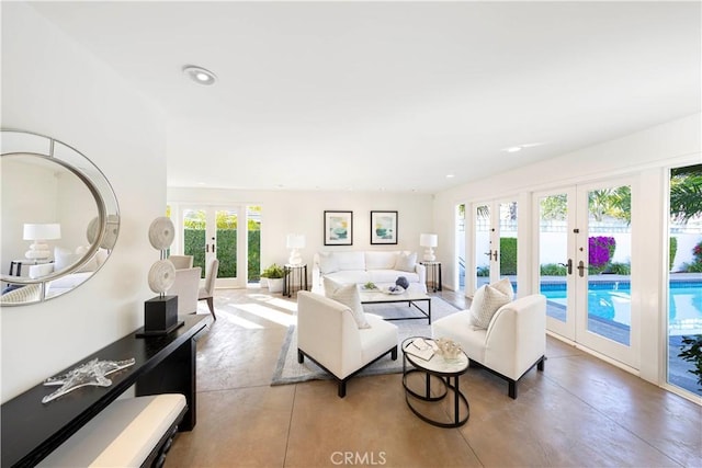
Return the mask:
[[77,388],[86,387],[88,385],[110,387],[112,385],[112,380],[105,376],[133,366],[134,363],[134,357],[125,361],[99,361],[98,358],[94,358],[86,364],[81,364],[64,375],[49,377],[44,380],[44,385],[60,386],[60,388],[42,398],[42,403],[48,403],[69,391],[73,391]]

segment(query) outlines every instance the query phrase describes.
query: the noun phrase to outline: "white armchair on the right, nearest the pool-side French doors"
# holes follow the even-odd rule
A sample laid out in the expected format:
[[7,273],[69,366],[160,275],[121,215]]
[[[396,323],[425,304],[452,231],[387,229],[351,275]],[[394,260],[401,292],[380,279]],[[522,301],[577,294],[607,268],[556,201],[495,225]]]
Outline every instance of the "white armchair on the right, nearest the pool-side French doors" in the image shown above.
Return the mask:
[[461,344],[471,365],[497,374],[509,383],[509,396],[517,398],[517,383],[534,366],[544,369],[546,353],[546,298],[540,294],[516,299],[500,307],[487,330],[471,324],[471,310],[434,321],[432,336]]

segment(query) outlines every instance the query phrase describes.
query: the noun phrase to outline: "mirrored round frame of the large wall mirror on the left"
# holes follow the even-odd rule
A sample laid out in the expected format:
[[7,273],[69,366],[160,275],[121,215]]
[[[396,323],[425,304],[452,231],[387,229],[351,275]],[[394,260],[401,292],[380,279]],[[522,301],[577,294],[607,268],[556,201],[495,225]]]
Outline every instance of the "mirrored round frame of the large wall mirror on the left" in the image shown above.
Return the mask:
[[[86,185],[94,198],[98,216],[87,227],[87,233],[91,237],[94,236],[94,240],[91,242],[88,251],[78,261],[66,269],[37,278],[10,276],[5,274],[0,275],[0,281],[8,285],[19,285],[23,287],[37,284],[39,289],[38,299],[5,303],[2,301],[0,296],[0,305],[2,307],[37,304],[60,297],[87,283],[110,258],[120,231],[120,205],[117,197],[102,171],[83,153],[63,141],[32,132],[1,128],[0,147],[0,157],[3,159],[5,157],[18,158],[22,156],[38,157],[67,169]],[[90,275],[87,275],[79,284],[66,290],[61,290],[55,295],[47,295],[47,286],[52,281],[76,273],[95,259],[101,248],[107,251],[107,256],[103,262],[98,264],[93,272],[90,272]]]

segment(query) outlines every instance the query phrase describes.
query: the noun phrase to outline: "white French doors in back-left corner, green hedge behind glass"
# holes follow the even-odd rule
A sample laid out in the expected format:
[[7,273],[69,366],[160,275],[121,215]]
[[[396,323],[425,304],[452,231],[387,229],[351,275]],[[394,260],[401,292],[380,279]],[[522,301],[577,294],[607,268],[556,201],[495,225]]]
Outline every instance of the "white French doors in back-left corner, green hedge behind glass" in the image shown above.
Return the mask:
[[[219,260],[215,287],[240,287],[246,282],[237,259],[246,259],[246,212],[242,206],[186,206],[182,209],[183,253],[193,255],[193,266],[202,267],[205,277],[207,262]],[[244,278],[244,279],[241,279]]]

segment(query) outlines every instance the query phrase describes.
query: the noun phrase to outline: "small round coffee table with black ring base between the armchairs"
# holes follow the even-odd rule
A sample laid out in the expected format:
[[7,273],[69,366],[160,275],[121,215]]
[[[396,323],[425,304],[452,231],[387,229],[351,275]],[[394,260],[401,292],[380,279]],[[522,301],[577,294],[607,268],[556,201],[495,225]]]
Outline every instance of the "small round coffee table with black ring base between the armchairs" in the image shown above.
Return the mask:
[[[409,346],[414,346],[412,341],[417,338],[421,338],[427,342],[432,341],[432,339],[424,336],[411,336],[403,341],[403,387],[405,388],[405,401],[407,402],[407,406],[412,411],[412,413],[415,413],[419,419],[428,422],[429,424],[439,427],[460,427],[465,424],[471,416],[471,406],[468,404],[468,400],[465,395],[463,395],[461,390],[458,390],[458,376],[465,374],[468,370],[468,356],[463,351],[461,351],[455,359],[445,361],[437,353],[434,353],[431,358],[423,359],[412,354],[411,350],[408,350]],[[407,368],[407,363],[411,364],[411,368]],[[424,374],[423,391],[416,391],[408,385],[407,376],[414,373]],[[442,391],[440,392],[440,395],[431,395],[432,377],[435,381],[439,381],[442,387]],[[453,385],[451,385],[452,377]],[[446,397],[446,395],[449,393],[449,389],[453,391],[454,396],[452,422],[433,420],[426,414],[422,414],[421,411],[415,408],[411,403],[412,398],[427,402],[439,402]],[[464,418],[461,418],[462,401],[466,408],[466,414]]]

